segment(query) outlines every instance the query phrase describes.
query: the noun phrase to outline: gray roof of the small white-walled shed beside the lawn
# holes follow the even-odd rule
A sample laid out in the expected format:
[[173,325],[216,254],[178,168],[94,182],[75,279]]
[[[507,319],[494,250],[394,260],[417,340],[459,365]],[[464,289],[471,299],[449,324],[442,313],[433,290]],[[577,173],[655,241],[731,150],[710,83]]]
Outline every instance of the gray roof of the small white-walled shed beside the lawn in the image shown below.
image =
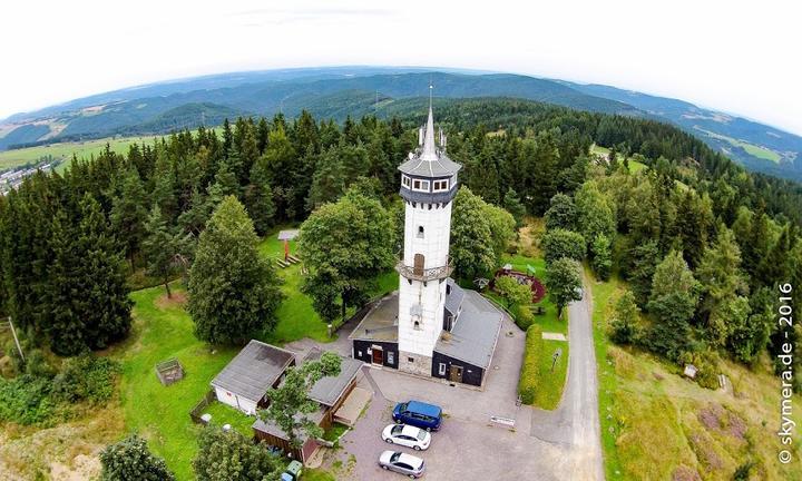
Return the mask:
[[290,351],[252,340],[223,367],[212,385],[258,402],[294,359]]

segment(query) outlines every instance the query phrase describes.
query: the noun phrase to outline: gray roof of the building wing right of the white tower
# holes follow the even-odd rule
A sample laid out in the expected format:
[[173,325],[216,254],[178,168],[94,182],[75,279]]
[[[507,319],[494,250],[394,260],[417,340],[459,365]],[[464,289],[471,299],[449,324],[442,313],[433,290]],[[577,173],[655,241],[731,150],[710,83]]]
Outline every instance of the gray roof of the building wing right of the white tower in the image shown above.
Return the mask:
[[462,313],[451,333],[443,333],[434,351],[487,369],[501,331],[502,313],[476,291],[464,291]]

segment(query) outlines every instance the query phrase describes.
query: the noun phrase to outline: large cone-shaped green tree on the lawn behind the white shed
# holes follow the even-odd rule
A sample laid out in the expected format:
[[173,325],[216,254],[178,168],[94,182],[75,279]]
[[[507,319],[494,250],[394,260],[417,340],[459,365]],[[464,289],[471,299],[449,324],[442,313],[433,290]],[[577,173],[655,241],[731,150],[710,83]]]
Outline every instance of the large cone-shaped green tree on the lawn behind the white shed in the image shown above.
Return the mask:
[[245,207],[233,196],[223,199],[200,234],[189,272],[188,311],[198,338],[239,343],[275,327],[280,281],[257,243]]

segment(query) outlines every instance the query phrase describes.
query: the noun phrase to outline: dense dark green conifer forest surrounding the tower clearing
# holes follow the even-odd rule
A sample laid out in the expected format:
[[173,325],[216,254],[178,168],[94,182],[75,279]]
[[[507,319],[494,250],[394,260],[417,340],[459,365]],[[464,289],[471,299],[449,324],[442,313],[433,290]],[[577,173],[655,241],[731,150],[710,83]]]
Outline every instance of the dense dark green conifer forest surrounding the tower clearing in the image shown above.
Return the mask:
[[[186,275],[228,196],[257,235],[354,185],[392,213],[423,105],[342,126],[306,111],[225,120],[221,135],[178,131],[39,173],[0,198],[0,310],[37,347],[101,350],[127,336],[131,289]],[[436,110],[462,185],[518,218],[545,216],[555,258],[629,282],[618,342],[674,361],[775,352],[775,286],[802,285],[802,186],[750,174],[656,121],[514,99],[440,99]],[[632,173],[630,158],[648,168]]]

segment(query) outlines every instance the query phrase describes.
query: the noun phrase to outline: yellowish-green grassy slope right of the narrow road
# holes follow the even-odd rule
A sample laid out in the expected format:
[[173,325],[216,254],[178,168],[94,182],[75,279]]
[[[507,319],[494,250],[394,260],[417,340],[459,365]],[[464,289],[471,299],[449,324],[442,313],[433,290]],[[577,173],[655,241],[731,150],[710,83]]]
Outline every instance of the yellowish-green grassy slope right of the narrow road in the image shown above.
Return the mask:
[[[679,367],[607,340],[607,322],[624,284],[591,282],[599,411],[608,480],[731,480],[752,461],[751,478],[802,479],[799,462],[776,461],[780,382],[766,362],[753,370],[722,361],[734,392],[703,389]],[[794,396],[793,412],[802,410]],[[799,441],[792,446],[799,459]],[[744,478],[746,479],[746,478]]]

